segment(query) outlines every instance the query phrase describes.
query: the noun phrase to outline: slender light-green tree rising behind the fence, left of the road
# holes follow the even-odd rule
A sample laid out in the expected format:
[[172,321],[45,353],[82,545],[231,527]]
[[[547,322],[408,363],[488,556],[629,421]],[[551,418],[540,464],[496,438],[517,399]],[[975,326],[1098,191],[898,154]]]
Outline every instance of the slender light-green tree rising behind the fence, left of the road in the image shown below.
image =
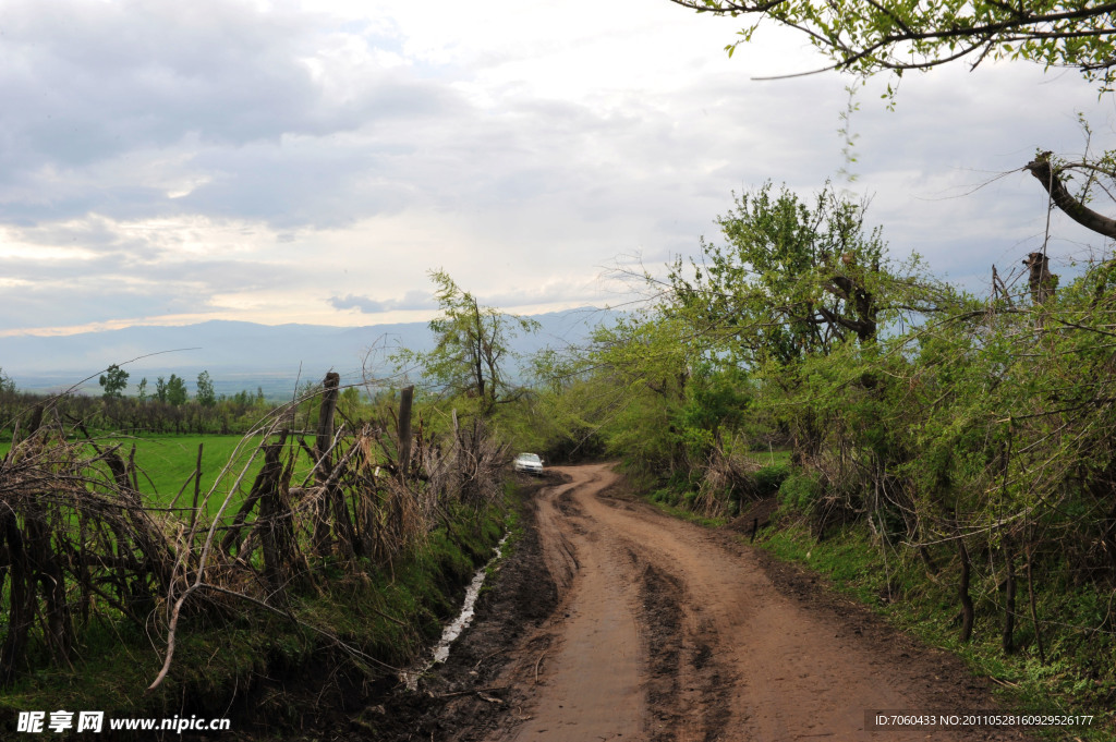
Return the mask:
[[443,395],[474,398],[480,413],[488,416],[498,404],[522,395],[507,376],[507,362],[514,357],[508,341],[520,331],[535,333],[539,324],[480,306],[445,271],[431,271],[430,277],[437,287],[442,312],[430,321],[437,345],[430,353],[404,349],[392,359],[400,368],[417,366]]

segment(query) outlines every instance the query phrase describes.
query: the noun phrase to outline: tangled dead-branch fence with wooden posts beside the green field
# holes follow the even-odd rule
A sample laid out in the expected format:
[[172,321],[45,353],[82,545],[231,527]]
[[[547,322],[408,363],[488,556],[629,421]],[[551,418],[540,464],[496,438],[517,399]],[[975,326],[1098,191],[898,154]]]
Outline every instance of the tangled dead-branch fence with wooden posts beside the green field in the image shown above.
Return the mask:
[[[50,411],[30,415],[0,463],[0,684],[67,666],[81,628],[104,619],[161,627],[155,687],[184,616],[246,600],[286,614],[290,591],[324,584],[325,565],[387,565],[452,507],[500,495],[507,452],[479,421],[436,440],[394,421],[335,427],[337,392],[330,374],[312,440],[291,430],[292,408],[278,411],[190,507],[144,501],[134,446],[125,457],[119,444],[74,440]],[[249,482],[254,459],[262,468]]]

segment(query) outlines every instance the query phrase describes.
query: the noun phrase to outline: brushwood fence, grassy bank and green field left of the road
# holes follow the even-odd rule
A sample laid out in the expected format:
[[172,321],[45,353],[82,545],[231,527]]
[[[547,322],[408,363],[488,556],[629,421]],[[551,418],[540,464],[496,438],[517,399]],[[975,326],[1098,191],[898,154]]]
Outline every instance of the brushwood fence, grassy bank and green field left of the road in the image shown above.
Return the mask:
[[508,454],[482,416],[431,425],[411,389],[338,380],[239,436],[0,389],[0,729],[59,707],[297,726],[317,712],[283,680],[307,668],[338,697],[394,684],[504,531]]

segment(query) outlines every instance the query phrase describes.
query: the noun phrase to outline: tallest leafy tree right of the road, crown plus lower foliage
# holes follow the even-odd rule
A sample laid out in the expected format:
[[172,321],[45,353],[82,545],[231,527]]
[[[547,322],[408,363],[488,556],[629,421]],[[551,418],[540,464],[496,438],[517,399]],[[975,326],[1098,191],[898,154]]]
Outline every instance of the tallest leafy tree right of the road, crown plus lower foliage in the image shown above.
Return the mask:
[[[828,394],[818,386],[819,368],[857,368],[881,353],[883,328],[955,302],[922,274],[916,257],[901,264],[887,259],[866,209],[829,186],[806,201],[767,183],[737,196],[718,219],[723,245],[703,241],[700,258],[675,261],[664,311],[701,358],[690,362],[701,373],[690,374],[687,402],[675,417],[692,450],[712,445],[722,426],[739,425],[733,408],[753,398],[751,412],[789,437],[795,461],[812,460],[833,427],[831,408],[816,403]],[[841,360],[830,363],[838,351]],[[862,370],[863,378],[850,373],[834,384],[864,388],[879,380],[870,367]],[[742,394],[742,372],[754,384],[751,395]]]

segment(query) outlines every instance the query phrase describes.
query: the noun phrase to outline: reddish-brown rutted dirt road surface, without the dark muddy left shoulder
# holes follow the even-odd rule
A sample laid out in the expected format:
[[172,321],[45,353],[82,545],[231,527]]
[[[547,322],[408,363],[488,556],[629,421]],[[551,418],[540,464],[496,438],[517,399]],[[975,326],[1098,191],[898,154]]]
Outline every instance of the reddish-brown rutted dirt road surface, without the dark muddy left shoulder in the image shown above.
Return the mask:
[[723,533],[609,497],[608,466],[564,473],[537,514],[559,604],[507,668],[502,682],[526,697],[490,742],[1024,739],[866,731],[868,710],[992,704],[964,678],[935,687],[933,658],[927,677],[916,647],[873,635],[884,629],[866,638],[857,621],[785,595]]

